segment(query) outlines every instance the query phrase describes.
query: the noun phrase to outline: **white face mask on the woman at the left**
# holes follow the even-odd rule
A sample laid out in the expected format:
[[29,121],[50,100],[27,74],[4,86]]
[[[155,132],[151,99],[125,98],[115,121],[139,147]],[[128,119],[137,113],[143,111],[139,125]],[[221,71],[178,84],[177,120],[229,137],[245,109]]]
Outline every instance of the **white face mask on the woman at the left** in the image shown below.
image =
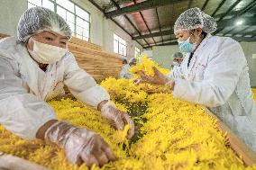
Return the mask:
[[37,62],[52,64],[59,61],[68,50],[33,40],[33,50],[28,51]]

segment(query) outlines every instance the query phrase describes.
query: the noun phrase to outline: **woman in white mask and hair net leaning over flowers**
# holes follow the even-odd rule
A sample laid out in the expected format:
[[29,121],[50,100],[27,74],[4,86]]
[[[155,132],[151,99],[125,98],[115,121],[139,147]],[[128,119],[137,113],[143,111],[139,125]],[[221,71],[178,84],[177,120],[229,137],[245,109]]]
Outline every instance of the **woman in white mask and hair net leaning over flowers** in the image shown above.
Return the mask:
[[105,140],[91,130],[58,121],[45,101],[71,94],[133,136],[133,121],[109,101],[109,94],[80,67],[68,49],[69,25],[42,7],[28,9],[18,23],[17,39],[0,41],[0,123],[23,139],[45,139],[64,148],[70,163],[102,166],[114,160]]

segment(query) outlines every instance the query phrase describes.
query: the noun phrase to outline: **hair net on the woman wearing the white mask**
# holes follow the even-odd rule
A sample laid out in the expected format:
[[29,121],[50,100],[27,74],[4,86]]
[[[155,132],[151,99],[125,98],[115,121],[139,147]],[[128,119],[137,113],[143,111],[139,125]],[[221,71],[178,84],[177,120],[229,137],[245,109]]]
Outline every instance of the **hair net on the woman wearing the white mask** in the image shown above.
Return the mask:
[[41,31],[54,31],[71,39],[71,30],[59,14],[43,7],[26,10],[20,18],[17,28],[18,40],[25,42],[33,34]]

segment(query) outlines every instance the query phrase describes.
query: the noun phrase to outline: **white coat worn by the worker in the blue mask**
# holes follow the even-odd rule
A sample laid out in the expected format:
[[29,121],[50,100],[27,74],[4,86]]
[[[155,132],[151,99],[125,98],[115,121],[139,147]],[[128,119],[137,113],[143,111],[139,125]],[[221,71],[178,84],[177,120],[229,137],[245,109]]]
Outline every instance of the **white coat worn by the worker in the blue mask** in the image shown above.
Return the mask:
[[189,67],[188,58],[169,74],[175,80],[174,97],[206,105],[256,152],[256,106],[240,44],[208,35]]

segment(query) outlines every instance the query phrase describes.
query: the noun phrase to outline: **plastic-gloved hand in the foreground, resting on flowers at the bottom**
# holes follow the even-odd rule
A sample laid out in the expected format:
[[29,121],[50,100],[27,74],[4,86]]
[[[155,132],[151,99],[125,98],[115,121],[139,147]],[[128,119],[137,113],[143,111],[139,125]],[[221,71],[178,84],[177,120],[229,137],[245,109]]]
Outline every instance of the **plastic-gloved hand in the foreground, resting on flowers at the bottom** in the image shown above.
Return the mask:
[[64,121],[57,121],[46,130],[44,139],[64,148],[66,157],[78,166],[85,163],[103,166],[113,161],[114,155],[103,138],[86,128],[78,128]]

